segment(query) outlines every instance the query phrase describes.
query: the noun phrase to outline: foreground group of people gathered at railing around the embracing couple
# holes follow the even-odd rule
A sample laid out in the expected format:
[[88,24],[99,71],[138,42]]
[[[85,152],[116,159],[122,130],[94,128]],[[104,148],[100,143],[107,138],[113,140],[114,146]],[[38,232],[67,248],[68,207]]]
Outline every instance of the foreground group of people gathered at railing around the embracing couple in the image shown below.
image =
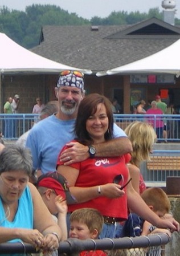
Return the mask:
[[132,228],[129,214],[142,220],[139,235],[179,231],[166,215],[165,193],[155,189],[148,201],[154,190],[148,193],[140,173],[157,139],[152,125],[134,121],[122,131],[107,97],[85,96],[79,71],[62,71],[55,95],[58,108],[28,131],[24,145],[1,144],[0,243],[27,242],[52,253],[67,238],[121,238]]

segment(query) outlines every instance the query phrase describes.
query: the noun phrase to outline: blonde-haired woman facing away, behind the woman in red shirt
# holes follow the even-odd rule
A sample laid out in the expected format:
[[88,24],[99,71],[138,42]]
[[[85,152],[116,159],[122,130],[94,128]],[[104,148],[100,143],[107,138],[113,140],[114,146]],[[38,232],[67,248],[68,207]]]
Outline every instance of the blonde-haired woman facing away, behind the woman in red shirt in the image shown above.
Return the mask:
[[142,161],[150,160],[150,153],[153,151],[157,135],[152,125],[141,121],[130,123],[125,133],[133,147],[132,158],[128,164],[132,185],[136,192],[141,194],[146,189],[146,185],[140,172],[140,164]]

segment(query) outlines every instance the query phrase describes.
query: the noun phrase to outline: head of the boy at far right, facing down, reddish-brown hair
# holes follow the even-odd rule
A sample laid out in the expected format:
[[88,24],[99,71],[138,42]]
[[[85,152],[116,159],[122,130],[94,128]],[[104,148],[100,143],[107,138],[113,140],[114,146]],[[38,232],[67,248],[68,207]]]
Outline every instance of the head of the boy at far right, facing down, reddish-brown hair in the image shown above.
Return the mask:
[[148,188],[141,194],[142,199],[159,217],[170,211],[170,201],[161,188]]

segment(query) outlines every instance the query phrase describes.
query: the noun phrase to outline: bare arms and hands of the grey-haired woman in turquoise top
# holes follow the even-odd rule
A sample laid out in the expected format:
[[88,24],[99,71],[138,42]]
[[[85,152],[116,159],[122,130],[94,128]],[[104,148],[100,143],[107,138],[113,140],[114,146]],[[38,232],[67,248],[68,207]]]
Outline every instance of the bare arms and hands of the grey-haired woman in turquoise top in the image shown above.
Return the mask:
[[[34,185],[28,183],[34,206],[34,229],[0,227],[0,243],[18,238],[34,246],[58,248],[62,233]],[[52,234],[55,232],[57,234]]]

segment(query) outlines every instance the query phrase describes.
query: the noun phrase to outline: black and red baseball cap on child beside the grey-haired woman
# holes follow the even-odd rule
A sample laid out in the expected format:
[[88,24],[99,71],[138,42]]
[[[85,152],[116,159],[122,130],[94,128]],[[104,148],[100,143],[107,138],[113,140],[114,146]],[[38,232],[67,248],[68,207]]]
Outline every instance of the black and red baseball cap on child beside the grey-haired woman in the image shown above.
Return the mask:
[[77,202],[69,191],[66,178],[58,172],[42,174],[38,178],[36,186],[53,189],[57,195],[61,195],[67,201],[67,204],[75,204]]

